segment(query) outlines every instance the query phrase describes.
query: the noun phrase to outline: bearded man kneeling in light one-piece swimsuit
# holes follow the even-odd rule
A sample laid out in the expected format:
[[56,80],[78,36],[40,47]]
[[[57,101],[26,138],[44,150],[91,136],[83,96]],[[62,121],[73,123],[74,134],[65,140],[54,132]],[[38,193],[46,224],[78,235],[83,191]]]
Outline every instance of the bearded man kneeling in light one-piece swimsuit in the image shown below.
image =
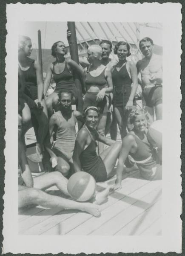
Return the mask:
[[73,93],[61,91],[59,94],[60,110],[55,112],[49,120],[49,133],[56,132],[56,142],[53,146],[57,156],[57,171],[65,177],[68,176],[73,166],[71,157],[75,143],[75,125],[77,120],[84,123],[83,116],[79,111],[71,109]]

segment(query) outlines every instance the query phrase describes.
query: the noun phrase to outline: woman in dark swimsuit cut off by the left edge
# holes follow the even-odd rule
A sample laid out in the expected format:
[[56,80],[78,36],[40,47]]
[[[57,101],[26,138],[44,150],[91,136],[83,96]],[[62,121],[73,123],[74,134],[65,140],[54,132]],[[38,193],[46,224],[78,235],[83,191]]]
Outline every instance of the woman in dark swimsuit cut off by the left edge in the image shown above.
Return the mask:
[[[43,97],[42,71],[38,61],[30,58],[31,39],[19,36],[19,102],[22,108],[24,134],[31,127],[31,121],[37,137],[39,158],[43,158],[43,143],[48,133],[48,113]],[[36,120],[35,120],[36,118]],[[31,120],[32,119],[32,120]],[[38,125],[38,128],[37,128]],[[49,138],[49,137],[48,137]],[[47,140],[47,145],[49,141]],[[52,154],[52,151],[50,151]]]

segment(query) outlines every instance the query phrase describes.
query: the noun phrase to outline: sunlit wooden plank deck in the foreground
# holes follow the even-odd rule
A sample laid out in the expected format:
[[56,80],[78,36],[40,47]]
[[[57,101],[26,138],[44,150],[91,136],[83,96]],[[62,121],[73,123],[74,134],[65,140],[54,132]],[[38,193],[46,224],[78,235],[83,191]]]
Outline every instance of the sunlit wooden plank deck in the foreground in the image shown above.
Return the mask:
[[[31,136],[30,136],[31,137]],[[110,180],[97,183],[102,191]],[[63,195],[55,186],[47,190],[52,195]],[[122,189],[113,192],[101,205],[96,218],[78,210],[45,209],[40,206],[21,209],[19,233],[21,235],[102,235],[102,236],[159,236],[161,235],[162,181],[144,180],[139,171],[122,177]]]

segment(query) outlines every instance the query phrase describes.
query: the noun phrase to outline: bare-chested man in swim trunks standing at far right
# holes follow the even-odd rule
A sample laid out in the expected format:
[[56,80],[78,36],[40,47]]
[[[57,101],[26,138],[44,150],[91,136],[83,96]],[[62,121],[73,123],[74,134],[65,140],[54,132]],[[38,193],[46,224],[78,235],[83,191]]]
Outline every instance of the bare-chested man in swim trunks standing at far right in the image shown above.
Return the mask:
[[151,38],[143,38],[139,48],[145,56],[137,62],[137,71],[141,74],[143,105],[154,121],[162,119],[162,58],[153,53]]

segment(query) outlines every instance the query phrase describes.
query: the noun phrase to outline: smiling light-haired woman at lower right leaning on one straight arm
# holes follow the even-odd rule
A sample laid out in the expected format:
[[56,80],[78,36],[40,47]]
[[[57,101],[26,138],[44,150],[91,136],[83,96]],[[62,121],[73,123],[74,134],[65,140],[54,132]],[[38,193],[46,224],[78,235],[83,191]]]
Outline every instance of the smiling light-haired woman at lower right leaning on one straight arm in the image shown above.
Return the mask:
[[131,124],[134,125],[122,140],[122,148],[117,165],[117,186],[121,186],[122,171],[125,160],[130,155],[135,160],[141,177],[147,180],[161,179],[161,156],[156,154],[152,142],[148,140],[148,113],[143,109],[134,109],[129,115]]

